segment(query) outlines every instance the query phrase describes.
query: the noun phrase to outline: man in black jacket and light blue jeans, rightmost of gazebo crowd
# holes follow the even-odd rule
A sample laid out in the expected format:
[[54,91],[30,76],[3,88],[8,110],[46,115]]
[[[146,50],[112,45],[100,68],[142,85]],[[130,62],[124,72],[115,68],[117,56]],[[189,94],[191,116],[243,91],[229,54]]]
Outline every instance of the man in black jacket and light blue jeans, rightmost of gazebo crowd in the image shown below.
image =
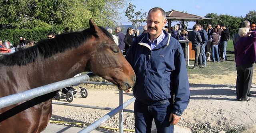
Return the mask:
[[220,28],[222,30],[221,32],[221,38],[220,38],[220,46],[221,46],[221,54],[222,54],[222,62],[224,62],[225,60],[227,60],[226,57],[226,48],[227,48],[227,44],[228,44],[228,34],[229,34],[229,30],[226,28],[225,24],[220,24]]

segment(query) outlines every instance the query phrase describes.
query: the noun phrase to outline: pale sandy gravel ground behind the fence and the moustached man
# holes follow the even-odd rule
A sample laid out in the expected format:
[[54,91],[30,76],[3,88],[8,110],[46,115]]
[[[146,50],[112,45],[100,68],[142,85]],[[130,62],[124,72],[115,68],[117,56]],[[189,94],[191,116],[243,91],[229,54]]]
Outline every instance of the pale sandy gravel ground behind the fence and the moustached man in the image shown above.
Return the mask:
[[[95,86],[95,85],[94,85]],[[104,86],[104,85],[102,85]],[[77,94],[72,103],[99,107],[117,107],[118,90],[116,87],[88,88],[88,97]],[[190,84],[191,100],[184,111],[179,126],[187,127],[193,133],[255,133],[256,123],[256,86],[251,89],[249,102],[236,101],[235,85]],[[78,90],[79,91],[79,90]],[[132,93],[124,93],[124,101],[131,99]],[[107,99],[107,100],[106,100]],[[53,100],[56,101],[56,100]],[[58,101],[57,101],[58,102]],[[65,97],[60,102],[67,102]],[[133,103],[126,109],[133,110]],[[52,121],[93,123],[109,111],[53,105]],[[101,126],[118,128],[119,115],[115,115]],[[86,125],[65,124],[77,127]],[[134,114],[124,112],[124,129],[134,130]],[[119,133],[118,130],[97,128],[99,131]],[[132,133],[132,131],[126,131]]]

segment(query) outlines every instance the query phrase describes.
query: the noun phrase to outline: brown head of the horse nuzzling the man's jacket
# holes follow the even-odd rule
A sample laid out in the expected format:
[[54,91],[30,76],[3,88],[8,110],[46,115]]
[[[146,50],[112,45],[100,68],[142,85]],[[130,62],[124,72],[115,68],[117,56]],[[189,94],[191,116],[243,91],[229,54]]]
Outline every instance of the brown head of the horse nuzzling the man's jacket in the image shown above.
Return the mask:
[[87,62],[90,70],[104,79],[117,85],[120,90],[127,90],[134,86],[135,73],[124,58],[120,48],[115,44],[112,35],[94,24],[90,19],[90,30],[94,32],[94,42],[91,58]]

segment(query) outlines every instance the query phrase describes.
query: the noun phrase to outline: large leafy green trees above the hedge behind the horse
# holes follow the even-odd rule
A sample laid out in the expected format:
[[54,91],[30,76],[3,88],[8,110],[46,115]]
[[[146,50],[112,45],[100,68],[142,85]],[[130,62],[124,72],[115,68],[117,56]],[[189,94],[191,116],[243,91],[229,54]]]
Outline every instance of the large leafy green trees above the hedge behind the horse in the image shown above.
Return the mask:
[[[130,1],[130,0],[128,0]],[[0,28],[58,26],[68,30],[116,25],[127,0],[0,0]]]

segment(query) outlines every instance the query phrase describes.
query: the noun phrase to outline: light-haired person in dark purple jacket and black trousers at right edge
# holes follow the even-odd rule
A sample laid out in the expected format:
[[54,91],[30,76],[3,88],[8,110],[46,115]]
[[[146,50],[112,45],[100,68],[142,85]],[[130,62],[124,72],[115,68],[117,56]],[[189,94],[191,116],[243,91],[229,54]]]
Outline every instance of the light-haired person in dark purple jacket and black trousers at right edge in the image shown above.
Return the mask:
[[248,95],[252,85],[253,64],[256,62],[256,32],[240,28],[238,34],[240,39],[235,44],[236,99],[250,101]]

